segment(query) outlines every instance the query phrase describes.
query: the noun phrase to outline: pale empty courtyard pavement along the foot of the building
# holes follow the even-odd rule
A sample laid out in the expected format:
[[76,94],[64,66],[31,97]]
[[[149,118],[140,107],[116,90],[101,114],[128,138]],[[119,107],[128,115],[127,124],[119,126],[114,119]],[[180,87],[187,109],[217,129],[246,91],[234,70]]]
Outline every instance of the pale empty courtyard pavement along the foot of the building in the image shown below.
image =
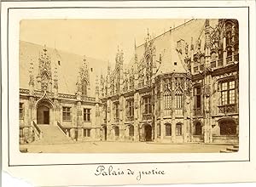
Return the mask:
[[74,142],[71,144],[20,144],[32,153],[218,153],[227,144],[154,144],[150,142]]

